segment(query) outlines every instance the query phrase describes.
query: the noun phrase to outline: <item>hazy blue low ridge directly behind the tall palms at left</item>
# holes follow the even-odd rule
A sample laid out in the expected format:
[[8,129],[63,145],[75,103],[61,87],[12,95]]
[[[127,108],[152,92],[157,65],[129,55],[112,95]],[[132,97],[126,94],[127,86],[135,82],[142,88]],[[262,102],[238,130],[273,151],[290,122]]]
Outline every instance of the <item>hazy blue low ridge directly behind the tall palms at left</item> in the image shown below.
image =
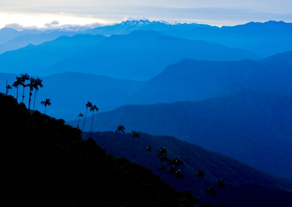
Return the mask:
[[[20,74],[0,74],[0,86],[12,85]],[[144,82],[108,78],[86,73],[58,73],[51,76],[41,77],[43,88],[36,93],[35,109],[44,113],[45,107],[41,101],[51,99],[52,105],[46,108],[47,114],[56,118],[73,120],[81,112],[85,115],[87,101],[99,108],[99,111],[112,110],[119,107],[119,102],[125,97],[139,90]],[[26,84],[28,81],[26,82]],[[8,94],[16,98],[17,89],[13,87]],[[18,89],[18,102],[22,100],[23,87]],[[24,103],[28,106],[29,88],[25,88]],[[33,98],[34,100],[34,90]]]

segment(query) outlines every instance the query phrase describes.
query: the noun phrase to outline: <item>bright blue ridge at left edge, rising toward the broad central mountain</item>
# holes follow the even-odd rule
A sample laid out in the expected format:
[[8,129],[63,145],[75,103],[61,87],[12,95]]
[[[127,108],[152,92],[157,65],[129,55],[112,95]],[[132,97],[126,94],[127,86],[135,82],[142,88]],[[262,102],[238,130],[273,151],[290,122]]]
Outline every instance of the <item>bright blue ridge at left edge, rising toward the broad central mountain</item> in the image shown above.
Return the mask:
[[[57,33],[42,34],[51,35]],[[73,35],[73,33],[70,34]],[[73,37],[61,36],[53,41],[44,42],[39,45],[29,44],[24,48],[1,54],[0,61],[3,66],[1,72],[26,72],[31,75],[41,75],[44,73],[44,70],[47,70],[48,66],[66,57],[71,57],[89,45],[98,44],[105,40],[105,38],[102,35],[78,34]],[[56,72],[58,73],[59,71]]]

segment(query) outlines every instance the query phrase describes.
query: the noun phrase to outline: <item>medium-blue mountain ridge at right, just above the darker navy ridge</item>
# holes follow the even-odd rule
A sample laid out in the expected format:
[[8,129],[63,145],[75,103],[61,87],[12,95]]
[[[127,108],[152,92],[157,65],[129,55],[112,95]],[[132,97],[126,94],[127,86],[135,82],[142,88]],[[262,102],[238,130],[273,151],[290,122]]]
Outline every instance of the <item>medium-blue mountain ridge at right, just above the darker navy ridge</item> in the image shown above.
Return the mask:
[[292,51],[258,61],[183,59],[151,78],[124,104],[198,101],[249,88],[292,97]]

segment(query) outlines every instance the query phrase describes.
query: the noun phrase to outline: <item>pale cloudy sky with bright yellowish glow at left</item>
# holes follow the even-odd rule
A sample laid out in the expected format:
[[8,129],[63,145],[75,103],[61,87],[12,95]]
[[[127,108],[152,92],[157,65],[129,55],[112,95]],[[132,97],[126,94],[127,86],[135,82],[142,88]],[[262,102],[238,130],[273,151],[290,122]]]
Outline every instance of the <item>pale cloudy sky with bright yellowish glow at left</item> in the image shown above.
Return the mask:
[[269,20],[292,22],[291,0],[1,0],[0,28],[54,28],[64,24],[150,21],[234,26]]

